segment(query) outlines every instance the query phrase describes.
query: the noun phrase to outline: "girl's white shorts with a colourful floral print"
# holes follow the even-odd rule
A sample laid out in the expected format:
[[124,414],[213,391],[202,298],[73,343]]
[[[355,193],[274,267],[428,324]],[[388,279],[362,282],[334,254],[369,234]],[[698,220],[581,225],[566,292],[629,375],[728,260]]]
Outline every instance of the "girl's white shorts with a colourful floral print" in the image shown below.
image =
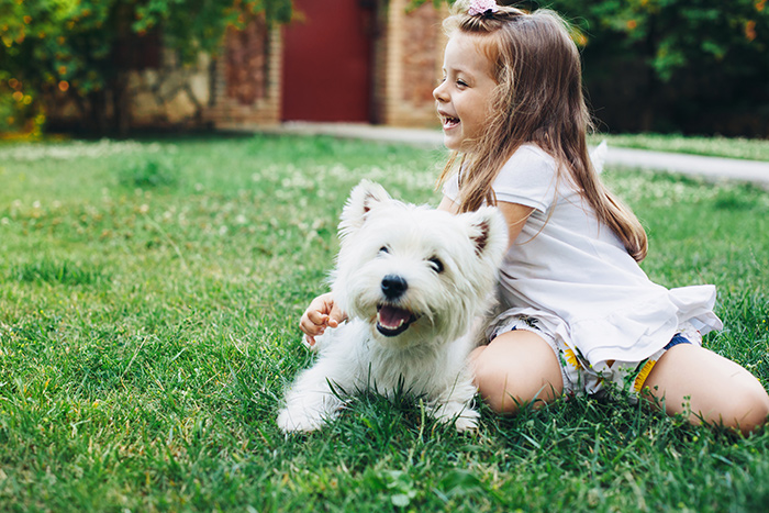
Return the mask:
[[514,330],[536,333],[553,348],[560,364],[564,394],[587,393],[602,397],[612,392],[624,392],[631,402],[637,402],[646,378],[666,350],[678,344],[702,344],[700,332],[684,324],[665,347],[642,361],[605,360],[591,365],[579,349],[568,347],[562,341],[556,339],[550,333],[540,328],[534,317],[510,317],[494,326],[489,338],[493,341],[494,337]]

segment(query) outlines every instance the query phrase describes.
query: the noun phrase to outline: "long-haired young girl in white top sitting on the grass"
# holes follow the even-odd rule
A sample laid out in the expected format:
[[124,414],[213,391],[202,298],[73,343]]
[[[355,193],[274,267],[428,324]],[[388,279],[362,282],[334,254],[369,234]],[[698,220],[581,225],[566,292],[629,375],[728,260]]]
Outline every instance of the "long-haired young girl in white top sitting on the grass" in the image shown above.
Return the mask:
[[[444,79],[433,96],[454,155],[438,208],[495,204],[511,242],[499,282],[506,310],[471,356],[482,398],[515,413],[561,394],[624,390],[694,424],[764,425],[760,382],[701,347],[702,334],[722,327],[714,287],[667,290],[638,267],[646,233],[590,161],[567,25],[551,11],[472,0],[444,26]],[[344,319],[324,294],[300,326],[312,344]]]

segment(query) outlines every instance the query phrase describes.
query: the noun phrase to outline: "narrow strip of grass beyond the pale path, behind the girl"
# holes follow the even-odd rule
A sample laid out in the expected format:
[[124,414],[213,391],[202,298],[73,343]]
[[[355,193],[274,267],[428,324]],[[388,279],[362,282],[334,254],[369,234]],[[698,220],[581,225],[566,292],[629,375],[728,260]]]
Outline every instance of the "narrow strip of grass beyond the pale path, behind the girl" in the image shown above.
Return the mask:
[[593,144],[602,140],[617,147],[769,161],[769,140],[665,134],[597,134],[591,137]]

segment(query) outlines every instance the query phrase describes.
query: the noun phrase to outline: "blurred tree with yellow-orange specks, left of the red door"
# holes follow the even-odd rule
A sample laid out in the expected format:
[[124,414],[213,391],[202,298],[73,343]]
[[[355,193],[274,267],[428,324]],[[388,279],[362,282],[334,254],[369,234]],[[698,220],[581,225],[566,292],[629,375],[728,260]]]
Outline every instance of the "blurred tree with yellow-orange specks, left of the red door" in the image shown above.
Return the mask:
[[291,0],[0,0],[0,130],[38,126],[41,98],[58,90],[90,129],[124,132],[126,73],[145,38],[190,60],[256,15],[286,22]]

